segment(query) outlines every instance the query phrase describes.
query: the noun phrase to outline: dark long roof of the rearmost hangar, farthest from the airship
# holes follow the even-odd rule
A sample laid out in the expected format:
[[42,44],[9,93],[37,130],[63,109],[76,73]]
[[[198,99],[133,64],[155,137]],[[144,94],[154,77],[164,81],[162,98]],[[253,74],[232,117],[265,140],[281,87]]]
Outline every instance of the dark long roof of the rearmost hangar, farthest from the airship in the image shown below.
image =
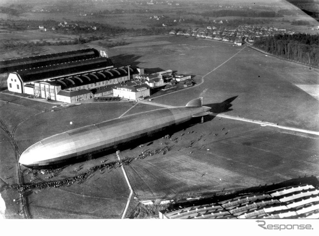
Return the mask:
[[0,73],[100,57],[94,48],[0,61]]

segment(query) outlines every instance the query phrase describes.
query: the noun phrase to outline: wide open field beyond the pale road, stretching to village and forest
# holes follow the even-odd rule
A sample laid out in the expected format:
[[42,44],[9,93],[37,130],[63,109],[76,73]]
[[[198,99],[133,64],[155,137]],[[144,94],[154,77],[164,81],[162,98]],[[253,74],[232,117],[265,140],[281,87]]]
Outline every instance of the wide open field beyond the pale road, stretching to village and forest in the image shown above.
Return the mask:
[[[172,43],[141,49],[152,55],[142,55],[140,48],[134,49],[138,58],[135,63],[145,68],[203,76],[242,49],[228,43],[177,36],[168,36],[166,41]],[[110,54],[120,52],[134,53],[128,48],[115,47]],[[245,48],[205,76],[200,86],[156,98],[154,102],[181,106],[202,94],[205,103],[210,104],[238,96],[233,103],[237,109],[229,115],[318,131],[318,100],[297,84],[318,85],[319,70]]]

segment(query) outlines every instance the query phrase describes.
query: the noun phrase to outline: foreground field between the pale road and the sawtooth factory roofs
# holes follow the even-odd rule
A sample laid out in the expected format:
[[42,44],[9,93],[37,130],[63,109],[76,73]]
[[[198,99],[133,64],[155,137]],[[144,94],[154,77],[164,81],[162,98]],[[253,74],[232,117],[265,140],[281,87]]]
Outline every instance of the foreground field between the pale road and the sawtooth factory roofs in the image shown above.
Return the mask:
[[[305,174],[319,175],[318,137],[224,118],[188,127],[174,137],[178,142],[168,140],[167,145],[174,147],[165,155],[147,157],[125,167],[139,198],[169,199],[276,183]],[[196,142],[185,148],[191,140]],[[144,149],[158,148],[160,141]],[[131,152],[134,150],[130,151],[133,155]]]

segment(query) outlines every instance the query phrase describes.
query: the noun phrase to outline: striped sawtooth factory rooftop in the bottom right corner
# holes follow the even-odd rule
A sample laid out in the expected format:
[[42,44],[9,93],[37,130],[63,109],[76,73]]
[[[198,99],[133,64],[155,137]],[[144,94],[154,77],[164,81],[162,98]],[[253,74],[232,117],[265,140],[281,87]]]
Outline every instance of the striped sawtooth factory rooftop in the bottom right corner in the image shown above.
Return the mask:
[[[276,196],[273,194],[275,193]],[[278,195],[283,193],[284,195]],[[295,196],[290,201],[284,198]],[[213,206],[213,208],[212,208]],[[163,218],[319,218],[319,191],[312,185],[290,186],[208,205],[160,211]]]

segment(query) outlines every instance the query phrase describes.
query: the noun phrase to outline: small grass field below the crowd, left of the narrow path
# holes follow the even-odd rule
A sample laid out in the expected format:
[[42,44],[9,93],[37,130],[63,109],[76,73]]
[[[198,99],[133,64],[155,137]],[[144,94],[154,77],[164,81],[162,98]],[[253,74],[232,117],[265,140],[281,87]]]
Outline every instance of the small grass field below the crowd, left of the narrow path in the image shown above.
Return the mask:
[[[90,164],[86,165],[88,166]],[[74,173],[72,167],[69,167],[57,178],[69,177]],[[117,168],[101,173],[96,172],[82,184],[75,183],[70,187],[33,191],[28,197],[29,202],[32,202],[30,204],[32,216],[35,219],[121,218],[129,194],[122,170]],[[52,195],[54,198],[51,198]]]

